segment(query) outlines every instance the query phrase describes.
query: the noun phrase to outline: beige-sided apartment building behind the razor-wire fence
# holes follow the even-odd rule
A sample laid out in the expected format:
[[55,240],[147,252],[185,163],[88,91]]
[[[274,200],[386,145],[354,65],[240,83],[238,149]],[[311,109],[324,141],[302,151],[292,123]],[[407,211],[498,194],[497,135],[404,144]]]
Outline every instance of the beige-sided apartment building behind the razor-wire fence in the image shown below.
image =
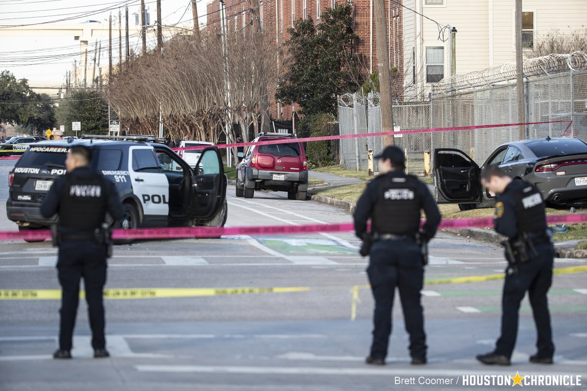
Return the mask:
[[[447,25],[457,29],[457,74],[515,62],[514,0],[404,0],[403,5],[405,100],[427,99],[430,86],[450,76]],[[585,27],[586,0],[522,2],[522,41],[527,55],[549,32],[570,33]]]

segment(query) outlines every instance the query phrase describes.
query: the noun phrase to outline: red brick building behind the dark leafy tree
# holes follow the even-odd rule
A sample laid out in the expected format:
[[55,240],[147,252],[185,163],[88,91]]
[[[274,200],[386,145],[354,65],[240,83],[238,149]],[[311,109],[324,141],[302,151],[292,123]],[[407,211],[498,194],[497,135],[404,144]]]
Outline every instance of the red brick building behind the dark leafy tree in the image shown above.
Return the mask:
[[[289,39],[287,29],[294,21],[311,17],[320,23],[320,14],[335,4],[345,4],[347,0],[265,0],[259,1],[261,8],[261,26],[265,35],[275,39],[278,46],[283,46]],[[390,66],[396,66],[396,83],[403,85],[403,8],[402,0],[386,0],[387,41],[389,43]],[[373,0],[355,0],[353,5],[353,31],[359,36],[355,43],[355,52],[366,59],[366,72],[377,70],[376,28]],[[227,32],[239,31],[251,21],[249,0],[225,0],[225,22]],[[207,27],[220,29],[220,1],[212,0],[207,4]],[[281,59],[275,64],[280,66]],[[275,85],[269,85],[269,112],[275,119],[289,120],[292,113],[299,110],[297,105],[282,106],[275,102]],[[352,92],[352,91],[349,91]]]

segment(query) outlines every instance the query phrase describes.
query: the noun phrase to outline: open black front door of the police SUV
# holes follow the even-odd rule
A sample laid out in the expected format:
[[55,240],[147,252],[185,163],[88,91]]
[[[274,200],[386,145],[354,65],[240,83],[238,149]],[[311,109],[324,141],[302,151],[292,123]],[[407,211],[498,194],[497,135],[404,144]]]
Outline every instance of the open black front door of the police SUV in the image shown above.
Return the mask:
[[197,220],[210,220],[224,207],[227,180],[220,150],[203,150],[191,177],[190,212]]

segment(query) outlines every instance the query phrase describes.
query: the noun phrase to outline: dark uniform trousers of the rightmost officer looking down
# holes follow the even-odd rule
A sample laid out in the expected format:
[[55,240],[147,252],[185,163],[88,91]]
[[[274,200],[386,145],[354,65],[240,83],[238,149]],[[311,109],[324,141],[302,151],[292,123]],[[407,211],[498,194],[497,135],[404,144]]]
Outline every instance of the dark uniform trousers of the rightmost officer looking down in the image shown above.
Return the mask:
[[552,285],[552,263],[554,249],[550,244],[536,245],[537,257],[518,263],[518,272],[505,274],[502,296],[501,336],[497,340],[495,353],[511,358],[518,335],[519,305],[526,292],[538,333],[536,346],[538,356],[551,358],[554,355],[551,318],[546,293]]

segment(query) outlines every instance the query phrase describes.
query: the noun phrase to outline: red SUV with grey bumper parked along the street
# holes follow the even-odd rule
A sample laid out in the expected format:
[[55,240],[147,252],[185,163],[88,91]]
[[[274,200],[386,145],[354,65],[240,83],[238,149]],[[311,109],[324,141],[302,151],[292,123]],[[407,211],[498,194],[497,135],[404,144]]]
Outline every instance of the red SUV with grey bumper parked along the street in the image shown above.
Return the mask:
[[291,143],[250,146],[237,166],[237,197],[255,190],[287,191],[289,200],[306,200],[308,168],[302,143],[281,133],[260,134],[257,141],[292,139]]

